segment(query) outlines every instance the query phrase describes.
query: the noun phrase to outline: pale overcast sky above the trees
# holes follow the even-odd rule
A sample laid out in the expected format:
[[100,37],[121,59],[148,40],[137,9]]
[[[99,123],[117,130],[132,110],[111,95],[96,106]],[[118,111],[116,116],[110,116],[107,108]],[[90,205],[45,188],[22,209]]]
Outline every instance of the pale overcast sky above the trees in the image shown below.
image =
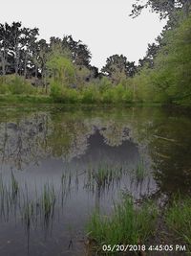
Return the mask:
[[0,0],[0,22],[22,21],[25,27],[39,28],[40,38],[73,35],[87,44],[92,64],[102,67],[106,58],[122,54],[130,61],[145,55],[165,21],[143,12],[129,17],[135,0]]

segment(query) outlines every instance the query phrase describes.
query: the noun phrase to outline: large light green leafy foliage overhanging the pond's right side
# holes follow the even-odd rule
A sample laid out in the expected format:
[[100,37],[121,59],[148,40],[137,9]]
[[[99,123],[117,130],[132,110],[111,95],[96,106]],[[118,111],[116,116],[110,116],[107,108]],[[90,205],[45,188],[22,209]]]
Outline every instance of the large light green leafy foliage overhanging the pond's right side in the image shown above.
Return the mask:
[[138,99],[190,105],[191,17],[166,31],[162,41],[153,69],[145,65],[135,78]]

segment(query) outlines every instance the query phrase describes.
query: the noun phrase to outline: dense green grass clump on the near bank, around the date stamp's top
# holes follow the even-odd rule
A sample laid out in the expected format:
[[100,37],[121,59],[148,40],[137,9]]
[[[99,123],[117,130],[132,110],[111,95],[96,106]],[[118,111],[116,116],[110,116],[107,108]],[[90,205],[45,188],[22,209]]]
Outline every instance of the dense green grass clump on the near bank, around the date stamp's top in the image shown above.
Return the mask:
[[115,204],[113,215],[93,214],[87,224],[88,238],[96,242],[96,250],[102,244],[143,244],[155,232],[157,216],[155,204],[145,202],[138,207],[125,197]]

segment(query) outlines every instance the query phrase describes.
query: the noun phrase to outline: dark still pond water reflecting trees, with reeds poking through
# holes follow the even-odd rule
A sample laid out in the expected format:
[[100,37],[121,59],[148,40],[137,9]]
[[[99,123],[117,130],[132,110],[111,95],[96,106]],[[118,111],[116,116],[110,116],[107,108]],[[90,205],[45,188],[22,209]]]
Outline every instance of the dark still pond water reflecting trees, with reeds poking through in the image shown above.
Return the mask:
[[1,107],[0,255],[85,255],[95,208],[191,193],[191,114]]

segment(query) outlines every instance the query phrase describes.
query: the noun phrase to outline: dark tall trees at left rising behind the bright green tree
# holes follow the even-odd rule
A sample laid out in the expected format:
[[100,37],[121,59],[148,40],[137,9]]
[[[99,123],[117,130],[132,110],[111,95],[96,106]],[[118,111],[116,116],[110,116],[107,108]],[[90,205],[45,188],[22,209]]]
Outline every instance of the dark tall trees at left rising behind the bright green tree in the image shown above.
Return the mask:
[[90,65],[91,53],[87,45],[75,41],[72,35],[62,39],[52,36],[50,42],[37,40],[37,28],[22,27],[21,22],[0,24],[0,74],[15,74],[24,78],[45,78],[47,61],[53,52],[64,52],[74,64],[85,66],[97,76],[97,68]]

